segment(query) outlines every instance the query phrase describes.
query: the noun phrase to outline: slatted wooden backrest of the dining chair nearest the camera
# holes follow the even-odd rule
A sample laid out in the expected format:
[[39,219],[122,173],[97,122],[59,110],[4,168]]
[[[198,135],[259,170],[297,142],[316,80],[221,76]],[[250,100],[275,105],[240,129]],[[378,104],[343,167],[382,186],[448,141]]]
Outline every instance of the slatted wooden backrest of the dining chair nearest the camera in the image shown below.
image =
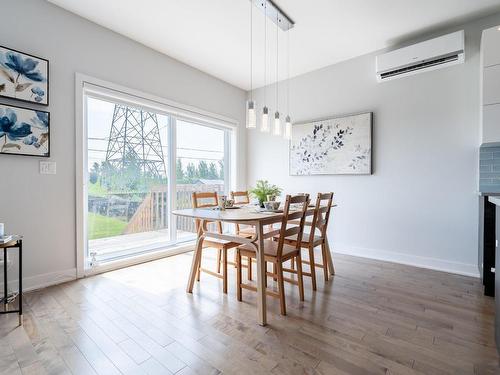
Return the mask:
[[[290,212],[291,204],[300,204],[300,211]],[[300,250],[300,242],[302,241],[302,233],[304,232],[304,222],[306,219],[307,206],[309,204],[309,195],[296,195],[296,196],[286,196],[285,205],[283,208],[283,219],[281,221],[280,235],[278,239],[278,250],[276,256],[281,259],[283,255],[283,245],[285,243],[285,238],[297,234],[297,249]],[[294,221],[300,218],[299,225],[294,225]],[[291,228],[287,228],[287,225],[293,225]]]

